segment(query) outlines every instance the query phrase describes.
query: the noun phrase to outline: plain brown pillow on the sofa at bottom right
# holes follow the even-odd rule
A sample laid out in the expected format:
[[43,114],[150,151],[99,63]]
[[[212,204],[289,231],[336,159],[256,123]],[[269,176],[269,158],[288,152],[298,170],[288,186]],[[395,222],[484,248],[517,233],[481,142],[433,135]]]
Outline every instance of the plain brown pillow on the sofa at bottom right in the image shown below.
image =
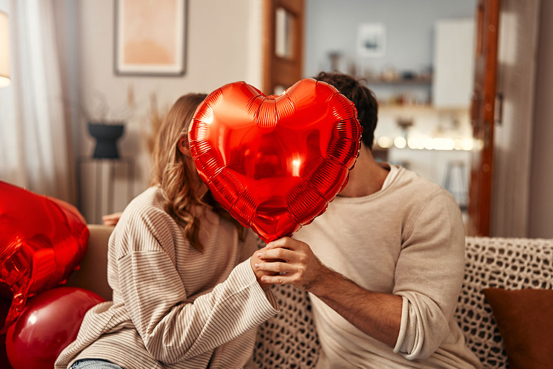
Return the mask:
[[509,358],[509,367],[553,366],[553,290],[483,290]]

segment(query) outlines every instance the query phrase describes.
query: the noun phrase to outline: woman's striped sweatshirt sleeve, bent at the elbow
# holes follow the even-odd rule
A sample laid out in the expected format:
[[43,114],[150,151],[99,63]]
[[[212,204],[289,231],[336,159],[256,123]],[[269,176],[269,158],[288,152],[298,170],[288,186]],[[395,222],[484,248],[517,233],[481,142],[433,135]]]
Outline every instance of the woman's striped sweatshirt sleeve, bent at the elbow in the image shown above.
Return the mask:
[[229,342],[273,316],[276,299],[260,288],[249,259],[210,293],[185,303],[186,291],[167,250],[170,237],[134,219],[126,242],[140,244],[117,260],[124,306],[148,352],[164,363],[194,357]]

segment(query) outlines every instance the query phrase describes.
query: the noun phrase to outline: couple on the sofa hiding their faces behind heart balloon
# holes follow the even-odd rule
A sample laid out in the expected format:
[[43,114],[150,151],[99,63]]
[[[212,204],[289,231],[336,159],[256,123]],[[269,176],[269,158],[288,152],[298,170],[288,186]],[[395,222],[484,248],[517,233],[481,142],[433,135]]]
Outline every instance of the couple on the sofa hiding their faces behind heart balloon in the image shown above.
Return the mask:
[[353,101],[363,126],[349,182],[327,212],[258,249],[197,175],[187,130],[206,96],[182,96],[158,134],[153,186],[109,239],[113,301],[87,312],[56,368],[249,367],[257,326],[279,310],[272,284],[309,291],[317,368],[480,367],[453,319],[465,248],[455,199],[375,162],[369,89],[338,73],[316,79]]

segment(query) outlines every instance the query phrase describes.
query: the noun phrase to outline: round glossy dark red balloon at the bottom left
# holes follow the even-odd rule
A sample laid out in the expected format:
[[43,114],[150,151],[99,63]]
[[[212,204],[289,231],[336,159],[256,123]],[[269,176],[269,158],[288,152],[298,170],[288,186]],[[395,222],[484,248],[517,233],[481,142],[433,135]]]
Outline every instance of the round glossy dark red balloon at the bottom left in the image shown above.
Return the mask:
[[59,287],[29,299],[8,328],[6,351],[13,369],[51,369],[73,342],[88,309],[105,301],[82,288]]

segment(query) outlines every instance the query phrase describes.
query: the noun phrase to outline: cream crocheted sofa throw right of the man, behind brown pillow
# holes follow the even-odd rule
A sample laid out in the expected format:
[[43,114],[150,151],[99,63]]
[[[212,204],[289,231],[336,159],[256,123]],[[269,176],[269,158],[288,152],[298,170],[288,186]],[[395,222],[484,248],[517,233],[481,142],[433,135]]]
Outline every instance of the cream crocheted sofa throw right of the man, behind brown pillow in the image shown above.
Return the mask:
[[486,288],[553,289],[553,239],[467,237],[465,279],[455,316],[467,346],[484,367],[505,368],[503,347]]

